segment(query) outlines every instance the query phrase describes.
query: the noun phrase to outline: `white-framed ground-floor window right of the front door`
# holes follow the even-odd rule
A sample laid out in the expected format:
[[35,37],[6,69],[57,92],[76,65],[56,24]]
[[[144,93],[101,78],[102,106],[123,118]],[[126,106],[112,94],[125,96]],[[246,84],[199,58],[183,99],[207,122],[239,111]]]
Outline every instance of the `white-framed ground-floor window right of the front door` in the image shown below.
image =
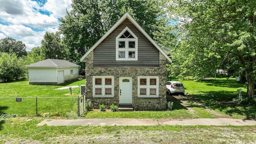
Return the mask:
[[158,76],[138,76],[138,97],[158,98],[159,97],[159,77]]

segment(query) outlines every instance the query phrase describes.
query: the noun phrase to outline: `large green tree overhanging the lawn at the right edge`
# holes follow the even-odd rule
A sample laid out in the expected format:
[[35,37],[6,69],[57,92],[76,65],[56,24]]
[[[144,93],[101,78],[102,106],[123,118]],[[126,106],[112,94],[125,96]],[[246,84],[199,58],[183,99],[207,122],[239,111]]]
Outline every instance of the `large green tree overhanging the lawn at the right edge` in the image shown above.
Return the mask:
[[183,69],[210,76],[222,62],[235,58],[246,73],[247,95],[254,97],[255,6],[255,0],[172,0],[170,14],[180,21]]

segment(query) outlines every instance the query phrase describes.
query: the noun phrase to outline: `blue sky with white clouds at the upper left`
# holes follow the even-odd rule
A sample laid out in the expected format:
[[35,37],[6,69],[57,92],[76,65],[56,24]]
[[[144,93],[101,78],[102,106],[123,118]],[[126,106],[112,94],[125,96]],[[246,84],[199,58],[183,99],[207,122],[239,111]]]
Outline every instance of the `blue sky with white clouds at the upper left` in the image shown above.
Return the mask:
[[0,39],[11,37],[40,46],[45,32],[56,32],[58,18],[71,10],[72,0],[0,0]]

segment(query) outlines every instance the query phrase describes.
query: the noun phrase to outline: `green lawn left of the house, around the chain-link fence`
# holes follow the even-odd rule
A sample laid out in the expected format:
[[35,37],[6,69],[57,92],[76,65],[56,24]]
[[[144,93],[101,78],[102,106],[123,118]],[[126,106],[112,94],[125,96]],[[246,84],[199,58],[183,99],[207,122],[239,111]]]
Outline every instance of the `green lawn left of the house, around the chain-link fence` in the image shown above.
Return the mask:
[[[85,84],[85,80],[77,80],[61,86],[29,85],[28,80],[0,83],[0,97],[3,97],[0,98],[0,114],[32,116],[36,115],[37,110],[37,114],[41,116],[76,118],[80,88],[72,88],[71,95],[69,89],[57,90],[57,88],[82,84]],[[22,102],[16,102],[16,97],[22,98]],[[36,100],[33,97],[39,98]]]

